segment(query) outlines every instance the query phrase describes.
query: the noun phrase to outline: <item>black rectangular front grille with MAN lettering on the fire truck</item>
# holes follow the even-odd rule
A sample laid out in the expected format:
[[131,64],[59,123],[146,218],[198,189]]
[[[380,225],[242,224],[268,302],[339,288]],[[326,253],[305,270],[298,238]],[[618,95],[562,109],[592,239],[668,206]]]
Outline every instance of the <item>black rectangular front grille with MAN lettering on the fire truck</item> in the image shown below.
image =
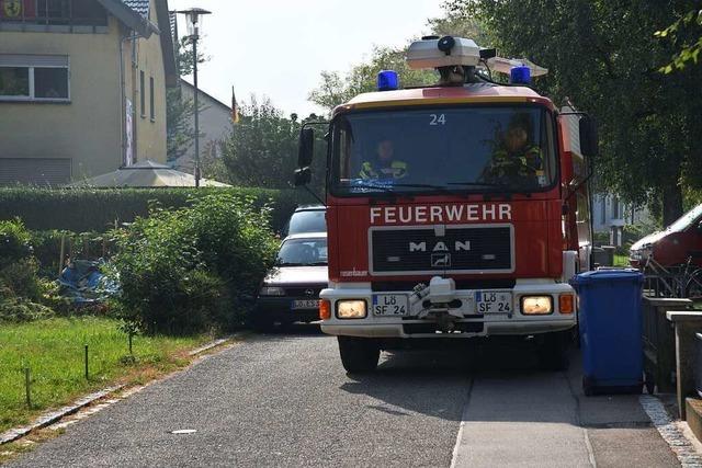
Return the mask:
[[371,273],[511,272],[512,228],[371,229]]

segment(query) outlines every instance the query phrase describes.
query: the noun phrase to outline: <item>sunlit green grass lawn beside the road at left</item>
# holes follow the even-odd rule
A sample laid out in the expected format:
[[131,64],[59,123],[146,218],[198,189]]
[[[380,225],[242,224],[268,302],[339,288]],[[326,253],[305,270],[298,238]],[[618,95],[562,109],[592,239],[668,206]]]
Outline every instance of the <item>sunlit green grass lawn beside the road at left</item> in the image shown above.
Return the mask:
[[[147,381],[182,367],[190,362],[188,351],[211,339],[134,336],[135,359],[131,359],[127,335],[117,330],[117,323],[90,317],[0,324],[0,432],[91,390],[116,381]],[[32,409],[25,402],[25,367],[31,369]]]

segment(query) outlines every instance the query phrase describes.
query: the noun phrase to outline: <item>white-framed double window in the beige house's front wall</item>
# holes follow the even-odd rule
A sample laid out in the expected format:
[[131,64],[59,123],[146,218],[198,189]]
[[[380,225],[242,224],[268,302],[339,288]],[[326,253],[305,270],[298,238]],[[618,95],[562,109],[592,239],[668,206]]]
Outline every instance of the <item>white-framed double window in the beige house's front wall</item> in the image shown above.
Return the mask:
[[0,101],[69,101],[67,56],[0,54]]

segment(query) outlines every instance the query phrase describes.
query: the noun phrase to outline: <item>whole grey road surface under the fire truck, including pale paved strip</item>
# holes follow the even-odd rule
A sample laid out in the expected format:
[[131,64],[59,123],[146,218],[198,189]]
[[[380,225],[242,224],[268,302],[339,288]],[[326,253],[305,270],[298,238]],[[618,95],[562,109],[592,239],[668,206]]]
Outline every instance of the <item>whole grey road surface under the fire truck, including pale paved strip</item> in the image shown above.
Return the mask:
[[679,466],[636,397],[585,398],[577,363],[539,372],[528,344],[383,353],[351,377],[336,339],[302,330],[211,356],[11,466]]

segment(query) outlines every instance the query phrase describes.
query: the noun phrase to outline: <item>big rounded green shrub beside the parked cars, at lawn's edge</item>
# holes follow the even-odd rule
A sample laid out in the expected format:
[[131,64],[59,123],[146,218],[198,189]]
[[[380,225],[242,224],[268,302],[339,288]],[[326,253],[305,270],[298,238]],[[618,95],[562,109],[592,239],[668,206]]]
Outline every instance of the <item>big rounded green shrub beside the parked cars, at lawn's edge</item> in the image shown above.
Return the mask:
[[201,195],[190,207],[154,208],[113,231],[124,318],[155,332],[194,333],[242,320],[272,264],[278,241],[270,208],[231,193]]

